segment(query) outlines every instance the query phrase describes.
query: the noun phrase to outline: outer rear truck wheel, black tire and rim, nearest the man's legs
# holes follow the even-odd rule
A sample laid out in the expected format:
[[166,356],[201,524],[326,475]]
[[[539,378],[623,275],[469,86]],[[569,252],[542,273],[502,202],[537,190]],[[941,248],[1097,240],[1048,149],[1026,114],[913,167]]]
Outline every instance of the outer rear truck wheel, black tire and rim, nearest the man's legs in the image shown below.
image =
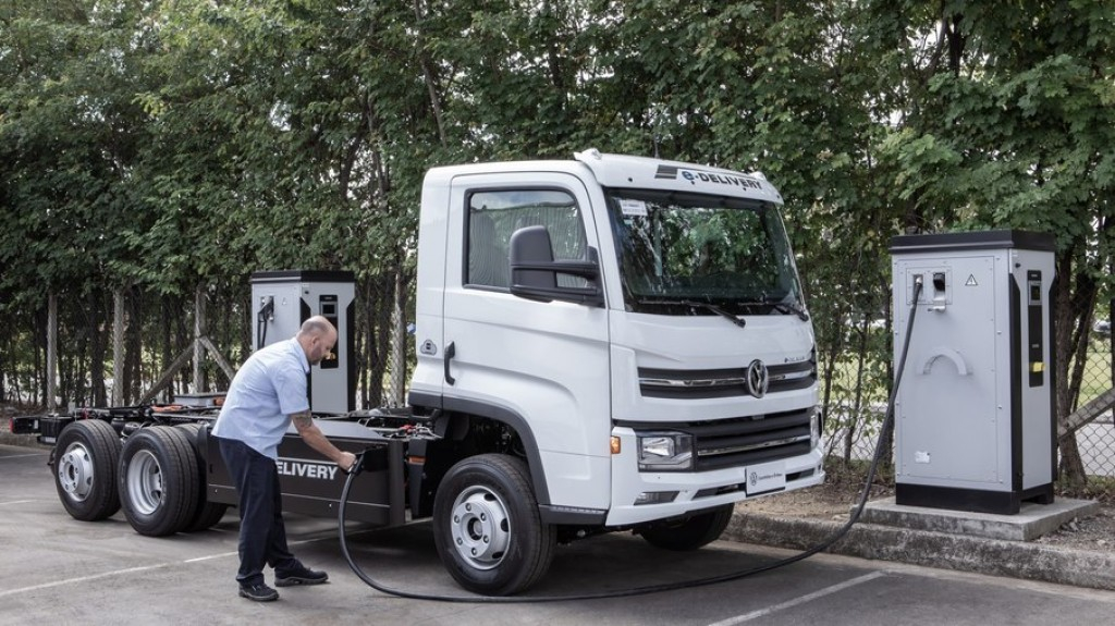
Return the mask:
[[132,528],[148,537],[183,530],[197,512],[197,461],[184,431],[144,428],[124,442],[120,505]]

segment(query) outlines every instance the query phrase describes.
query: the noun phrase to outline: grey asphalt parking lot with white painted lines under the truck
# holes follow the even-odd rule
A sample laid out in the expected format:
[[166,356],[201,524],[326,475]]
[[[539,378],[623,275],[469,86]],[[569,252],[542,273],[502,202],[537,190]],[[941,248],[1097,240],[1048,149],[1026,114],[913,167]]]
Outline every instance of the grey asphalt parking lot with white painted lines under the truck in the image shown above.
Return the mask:
[[[295,554],[330,573],[328,585],[280,589],[277,603],[236,596],[235,512],[213,529],[149,538],[117,513],[71,519],[55,493],[47,450],[0,444],[0,625],[7,624],[1049,624],[1107,623],[1115,593],[840,555],[727,583],[581,601],[463,604],[401,599],[367,587],[340,552],[336,522],[288,516]],[[728,536],[692,552],[650,547],[630,535],[562,546],[526,595],[622,590],[767,566],[793,550]],[[773,528],[773,524],[768,528]],[[787,529],[794,531],[804,530]],[[349,529],[356,559],[375,578],[408,591],[462,591],[444,571],[428,524]],[[883,541],[880,538],[879,541]]]

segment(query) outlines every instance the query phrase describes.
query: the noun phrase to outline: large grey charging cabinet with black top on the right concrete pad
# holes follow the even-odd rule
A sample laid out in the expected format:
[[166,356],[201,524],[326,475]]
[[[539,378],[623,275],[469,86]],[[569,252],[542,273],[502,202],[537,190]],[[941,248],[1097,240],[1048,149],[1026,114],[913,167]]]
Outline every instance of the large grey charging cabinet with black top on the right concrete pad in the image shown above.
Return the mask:
[[1053,236],[1022,231],[891,241],[895,503],[1011,515],[1056,477]]

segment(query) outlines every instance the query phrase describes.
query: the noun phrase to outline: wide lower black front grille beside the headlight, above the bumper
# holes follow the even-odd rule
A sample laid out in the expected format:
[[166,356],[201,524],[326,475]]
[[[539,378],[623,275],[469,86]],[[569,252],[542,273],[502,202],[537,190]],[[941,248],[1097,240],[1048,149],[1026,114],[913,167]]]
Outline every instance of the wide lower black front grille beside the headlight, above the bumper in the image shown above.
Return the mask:
[[626,423],[636,432],[678,431],[694,438],[694,470],[764,463],[809,452],[813,409],[685,423]]

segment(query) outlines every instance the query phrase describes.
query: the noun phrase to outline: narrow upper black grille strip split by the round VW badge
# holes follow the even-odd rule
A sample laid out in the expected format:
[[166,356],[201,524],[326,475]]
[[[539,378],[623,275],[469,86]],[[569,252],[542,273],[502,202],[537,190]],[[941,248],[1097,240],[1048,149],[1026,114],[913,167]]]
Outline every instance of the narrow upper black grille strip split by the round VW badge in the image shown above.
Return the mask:
[[[769,365],[767,394],[807,389],[817,381],[812,361]],[[658,370],[639,368],[639,391],[643,398],[699,400],[748,395],[747,369]]]

